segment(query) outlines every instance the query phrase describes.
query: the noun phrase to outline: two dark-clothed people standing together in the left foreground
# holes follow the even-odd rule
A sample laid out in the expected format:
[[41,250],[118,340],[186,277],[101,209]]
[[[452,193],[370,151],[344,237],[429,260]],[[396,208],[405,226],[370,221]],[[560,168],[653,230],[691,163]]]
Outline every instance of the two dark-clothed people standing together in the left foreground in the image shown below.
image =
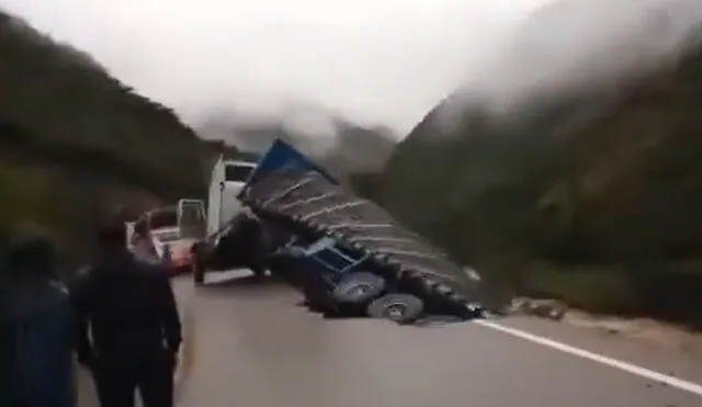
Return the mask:
[[75,360],[101,407],[173,405],[181,321],[168,274],[126,247],[125,226],[99,228],[99,251],[76,281],[61,281],[56,248],[30,234],[0,265],[0,405],[73,407]]

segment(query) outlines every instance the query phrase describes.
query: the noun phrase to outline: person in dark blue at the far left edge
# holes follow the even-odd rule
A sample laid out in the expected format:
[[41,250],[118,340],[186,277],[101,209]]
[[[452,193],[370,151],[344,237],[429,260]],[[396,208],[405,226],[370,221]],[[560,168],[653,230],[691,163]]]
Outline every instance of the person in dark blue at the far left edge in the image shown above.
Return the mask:
[[20,231],[0,269],[0,405],[75,406],[73,314],[53,241]]

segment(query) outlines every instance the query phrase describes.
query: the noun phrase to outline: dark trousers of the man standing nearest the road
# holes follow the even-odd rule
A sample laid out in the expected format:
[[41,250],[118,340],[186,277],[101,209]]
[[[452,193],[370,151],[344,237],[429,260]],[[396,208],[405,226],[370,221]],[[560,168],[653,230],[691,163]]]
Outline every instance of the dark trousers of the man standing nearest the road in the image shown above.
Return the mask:
[[162,351],[141,358],[105,359],[94,372],[101,407],[134,407],[135,389],[144,407],[173,406],[172,354]]

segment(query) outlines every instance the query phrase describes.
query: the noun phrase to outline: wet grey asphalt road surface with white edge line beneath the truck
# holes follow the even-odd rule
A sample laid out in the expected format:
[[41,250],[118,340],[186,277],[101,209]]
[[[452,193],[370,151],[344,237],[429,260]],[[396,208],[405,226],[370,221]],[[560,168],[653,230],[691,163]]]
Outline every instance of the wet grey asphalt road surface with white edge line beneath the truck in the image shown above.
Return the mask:
[[528,318],[324,319],[247,278],[173,284],[188,327],[181,407],[702,406],[694,350]]

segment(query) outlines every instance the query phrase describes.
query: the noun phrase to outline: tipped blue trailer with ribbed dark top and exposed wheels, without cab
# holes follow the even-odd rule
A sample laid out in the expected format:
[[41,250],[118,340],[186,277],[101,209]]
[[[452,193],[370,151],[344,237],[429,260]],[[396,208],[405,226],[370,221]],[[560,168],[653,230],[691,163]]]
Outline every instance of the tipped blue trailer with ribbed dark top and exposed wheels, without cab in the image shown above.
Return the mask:
[[[483,316],[468,301],[475,281],[460,265],[283,142],[273,144],[238,199],[249,211],[224,235],[256,241],[259,249],[248,253],[264,252],[258,261],[297,287],[312,310],[398,323],[427,314]],[[237,227],[252,223],[258,227]]]

